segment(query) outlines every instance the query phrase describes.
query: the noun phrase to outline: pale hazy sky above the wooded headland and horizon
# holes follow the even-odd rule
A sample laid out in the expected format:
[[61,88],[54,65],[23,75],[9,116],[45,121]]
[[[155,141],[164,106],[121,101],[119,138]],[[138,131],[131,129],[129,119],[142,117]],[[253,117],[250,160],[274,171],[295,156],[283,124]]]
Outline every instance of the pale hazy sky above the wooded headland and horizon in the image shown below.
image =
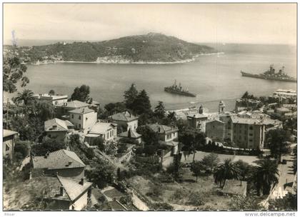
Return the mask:
[[4,43],[156,32],[197,43],[296,44],[296,4],[4,4]]

